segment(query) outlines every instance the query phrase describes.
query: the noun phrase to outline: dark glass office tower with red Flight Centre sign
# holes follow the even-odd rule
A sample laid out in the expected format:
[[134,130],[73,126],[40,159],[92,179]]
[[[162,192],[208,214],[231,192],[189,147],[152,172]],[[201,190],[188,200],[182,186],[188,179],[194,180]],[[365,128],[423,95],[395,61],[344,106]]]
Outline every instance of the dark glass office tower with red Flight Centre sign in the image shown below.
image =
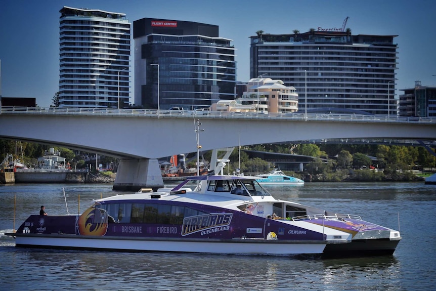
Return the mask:
[[235,98],[235,49],[218,26],[156,18],[133,25],[135,105],[208,108]]

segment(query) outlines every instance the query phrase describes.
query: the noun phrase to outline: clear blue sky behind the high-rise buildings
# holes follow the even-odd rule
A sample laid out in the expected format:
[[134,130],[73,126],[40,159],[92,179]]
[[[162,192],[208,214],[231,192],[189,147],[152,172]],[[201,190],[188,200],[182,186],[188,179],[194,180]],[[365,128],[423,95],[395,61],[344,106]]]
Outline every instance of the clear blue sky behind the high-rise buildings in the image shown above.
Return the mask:
[[[132,24],[149,17],[218,25],[220,36],[233,39],[237,49],[239,81],[249,79],[249,36],[255,31],[276,34],[340,28],[348,16],[346,27],[353,34],[398,35],[394,38],[399,45],[397,99],[403,93],[399,90],[413,88],[416,80],[423,86],[436,84],[434,0],[0,0],[3,97],[36,98],[42,107],[52,103],[59,91],[59,10],[63,6],[125,13]],[[133,66],[133,54],[130,61]],[[132,83],[132,101],[133,89]]]

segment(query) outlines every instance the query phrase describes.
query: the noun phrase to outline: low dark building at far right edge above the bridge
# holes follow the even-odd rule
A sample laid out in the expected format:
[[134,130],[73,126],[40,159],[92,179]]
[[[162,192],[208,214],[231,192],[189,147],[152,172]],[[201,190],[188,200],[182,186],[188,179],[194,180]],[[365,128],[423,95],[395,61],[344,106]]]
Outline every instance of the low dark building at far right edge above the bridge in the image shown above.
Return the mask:
[[414,88],[402,89],[400,95],[400,116],[436,117],[436,86],[421,86],[415,82]]

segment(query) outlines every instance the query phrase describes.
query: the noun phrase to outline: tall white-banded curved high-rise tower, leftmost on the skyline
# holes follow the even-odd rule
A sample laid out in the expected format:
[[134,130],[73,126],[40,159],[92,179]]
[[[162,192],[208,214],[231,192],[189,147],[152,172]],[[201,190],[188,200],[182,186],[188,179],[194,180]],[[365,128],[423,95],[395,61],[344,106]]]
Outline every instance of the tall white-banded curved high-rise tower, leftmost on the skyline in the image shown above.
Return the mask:
[[59,12],[59,107],[127,107],[131,24],[126,15],[71,7]]

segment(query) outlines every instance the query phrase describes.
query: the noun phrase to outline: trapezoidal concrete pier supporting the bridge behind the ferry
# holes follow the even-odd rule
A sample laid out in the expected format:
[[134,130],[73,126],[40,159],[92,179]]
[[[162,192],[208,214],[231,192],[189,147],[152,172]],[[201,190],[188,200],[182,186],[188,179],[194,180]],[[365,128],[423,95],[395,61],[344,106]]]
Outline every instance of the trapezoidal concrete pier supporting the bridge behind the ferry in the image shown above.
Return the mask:
[[141,188],[163,188],[157,159],[121,159],[112,190],[136,192]]

